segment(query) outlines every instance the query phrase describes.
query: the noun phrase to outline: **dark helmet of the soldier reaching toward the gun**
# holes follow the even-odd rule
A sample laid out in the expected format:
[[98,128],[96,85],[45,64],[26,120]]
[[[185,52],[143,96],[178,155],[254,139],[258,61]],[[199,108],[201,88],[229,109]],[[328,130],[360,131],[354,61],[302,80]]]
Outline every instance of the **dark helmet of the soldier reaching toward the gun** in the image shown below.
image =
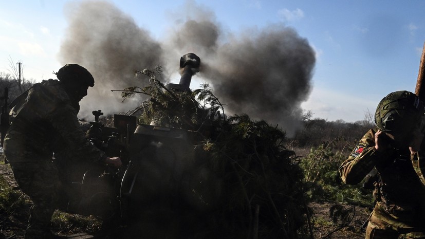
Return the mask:
[[56,73],[58,80],[65,85],[93,87],[95,79],[88,70],[78,64],[66,64]]

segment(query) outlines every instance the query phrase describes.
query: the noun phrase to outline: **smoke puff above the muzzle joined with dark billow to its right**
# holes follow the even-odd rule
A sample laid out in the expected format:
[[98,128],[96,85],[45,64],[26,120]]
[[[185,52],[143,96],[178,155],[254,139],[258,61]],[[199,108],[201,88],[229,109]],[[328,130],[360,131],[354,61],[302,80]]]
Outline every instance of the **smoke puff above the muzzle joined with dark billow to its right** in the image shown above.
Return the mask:
[[294,133],[316,62],[307,40],[283,25],[226,35],[214,14],[193,1],[181,11],[197,14],[173,27],[164,54],[176,49],[196,53],[201,58],[198,77],[213,86],[228,115],[245,113]]

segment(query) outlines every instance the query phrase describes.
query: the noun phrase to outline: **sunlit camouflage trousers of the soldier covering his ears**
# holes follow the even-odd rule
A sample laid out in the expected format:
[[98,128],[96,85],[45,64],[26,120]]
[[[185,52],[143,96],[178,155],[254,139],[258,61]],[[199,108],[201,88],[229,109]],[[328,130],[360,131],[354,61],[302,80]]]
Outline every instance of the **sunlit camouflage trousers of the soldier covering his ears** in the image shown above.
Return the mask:
[[[421,220],[422,221],[422,220]],[[411,220],[406,222],[387,213],[384,207],[377,203],[366,228],[366,239],[406,239],[425,238],[425,226],[422,222]]]

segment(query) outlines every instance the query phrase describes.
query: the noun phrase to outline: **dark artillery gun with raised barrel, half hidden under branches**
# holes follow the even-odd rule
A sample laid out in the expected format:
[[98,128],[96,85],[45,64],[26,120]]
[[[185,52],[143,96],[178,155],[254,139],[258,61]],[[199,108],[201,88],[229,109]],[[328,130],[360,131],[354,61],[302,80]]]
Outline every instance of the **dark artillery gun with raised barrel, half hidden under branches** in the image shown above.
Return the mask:
[[[166,85],[167,89],[190,90],[199,65],[194,53],[182,56],[180,82]],[[87,166],[60,166],[66,169],[63,180],[69,189],[61,210],[100,217],[101,231],[113,238],[134,238],[140,233],[146,238],[189,236],[193,222],[212,209],[219,197],[219,190],[199,185],[214,177],[208,175],[207,179],[208,173],[196,164],[200,156],[194,150],[193,133],[137,124],[136,117],[126,115],[114,115],[114,127],[106,127],[98,122],[101,114],[93,111],[95,121],[90,122],[87,136],[108,157],[120,156],[123,166],[118,170],[91,167],[88,171]]]

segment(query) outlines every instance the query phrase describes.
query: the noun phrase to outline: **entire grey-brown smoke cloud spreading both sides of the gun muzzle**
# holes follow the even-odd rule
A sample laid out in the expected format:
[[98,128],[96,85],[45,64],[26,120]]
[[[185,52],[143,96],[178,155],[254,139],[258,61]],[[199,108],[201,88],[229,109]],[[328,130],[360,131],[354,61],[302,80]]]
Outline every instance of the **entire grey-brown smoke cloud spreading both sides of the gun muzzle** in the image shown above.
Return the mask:
[[[176,19],[162,42],[154,41],[130,16],[105,2],[73,3],[69,27],[60,51],[65,63],[78,63],[95,77],[96,83],[80,102],[90,112],[102,109],[113,114],[131,109],[140,99],[121,103],[118,93],[142,85],[135,70],[164,66],[164,79],[175,78],[179,59],[193,52],[201,69],[193,80],[214,89],[225,113],[248,114],[278,124],[289,135],[301,122],[301,103],[307,100],[315,65],[315,54],[306,39],[281,24],[262,29],[224,32],[214,13],[193,1],[181,12],[191,17]],[[184,9],[184,10],[183,10]],[[173,82],[178,79],[173,79]],[[191,85],[191,88],[197,86]],[[113,102],[113,103],[112,103]],[[88,114],[89,115],[89,114]]]

